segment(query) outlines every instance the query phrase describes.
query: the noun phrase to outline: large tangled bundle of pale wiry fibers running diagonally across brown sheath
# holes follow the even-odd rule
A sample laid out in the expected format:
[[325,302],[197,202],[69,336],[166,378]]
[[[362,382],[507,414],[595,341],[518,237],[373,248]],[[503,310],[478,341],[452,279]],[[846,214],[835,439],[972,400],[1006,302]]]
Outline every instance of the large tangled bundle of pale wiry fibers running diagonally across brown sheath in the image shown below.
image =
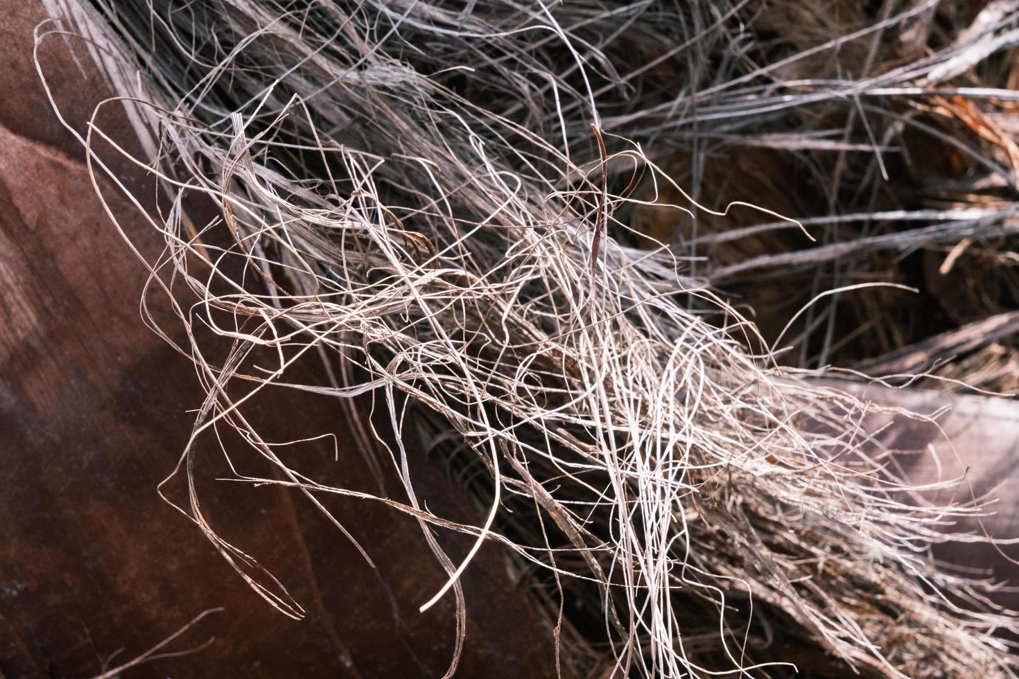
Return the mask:
[[[326,513],[322,498],[340,494],[417,518],[449,574],[422,608],[457,599],[457,654],[471,606],[459,577],[496,541],[535,583],[566,676],[786,676],[818,652],[843,676],[1013,676],[999,635],[1013,619],[927,553],[979,540],[950,534],[979,505],[926,502],[935,489],[867,454],[858,425],[874,406],[779,366],[682,250],[628,235],[642,205],[726,212],[656,163],[669,126],[735,133],[741,112],[888,88],[949,68],[951,50],[811,90],[754,62],[751,21],[767,8],[749,0],[51,11],[60,20],[38,40],[84,37],[141,139],[131,156],[90,124],[90,167],[116,181],[108,158],[122,155],[159,182],[162,208],[146,215],[166,248],[148,263],[152,285],[173,300],[208,394],[177,470],[180,509],[280,611],[302,613],[202,512],[195,444],[217,427],[282,478],[246,475],[231,450],[237,479],[290,487]],[[666,189],[682,201],[663,206]],[[217,214],[196,223],[185,206],[202,197]],[[309,359],[321,379],[293,382]],[[377,440],[399,495],[284,460],[244,414],[272,385],[334,399],[337,417],[370,394],[397,436],[365,431],[363,448]],[[476,525],[419,502],[405,430],[471,470]],[[466,557],[446,554],[445,530],[471,536]],[[795,644],[773,643],[786,630]]]

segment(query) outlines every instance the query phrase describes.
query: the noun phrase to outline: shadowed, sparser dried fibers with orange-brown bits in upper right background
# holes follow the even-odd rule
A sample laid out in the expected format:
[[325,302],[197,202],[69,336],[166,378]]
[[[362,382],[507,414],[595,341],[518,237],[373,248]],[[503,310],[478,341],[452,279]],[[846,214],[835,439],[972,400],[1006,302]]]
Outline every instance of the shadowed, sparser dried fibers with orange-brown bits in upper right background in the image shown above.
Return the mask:
[[[1019,304],[1009,264],[1017,9],[771,0],[759,13],[747,52],[781,79],[754,108],[781,112],[702,125],[697,153],[679,145],[663,166],[693,194],[706,187],[709,206],[719,200],[710,187],[739,186],[744,200],[800,217],[818,242],[753,214],[659,230],[708,257],[701,270],[755,309],[769,339],[827,288],[880,280],[920,290],[828,297],[787,334],[793,350],[781,361],[853,365]],[[646,210],[636,217],[655,226]]]

